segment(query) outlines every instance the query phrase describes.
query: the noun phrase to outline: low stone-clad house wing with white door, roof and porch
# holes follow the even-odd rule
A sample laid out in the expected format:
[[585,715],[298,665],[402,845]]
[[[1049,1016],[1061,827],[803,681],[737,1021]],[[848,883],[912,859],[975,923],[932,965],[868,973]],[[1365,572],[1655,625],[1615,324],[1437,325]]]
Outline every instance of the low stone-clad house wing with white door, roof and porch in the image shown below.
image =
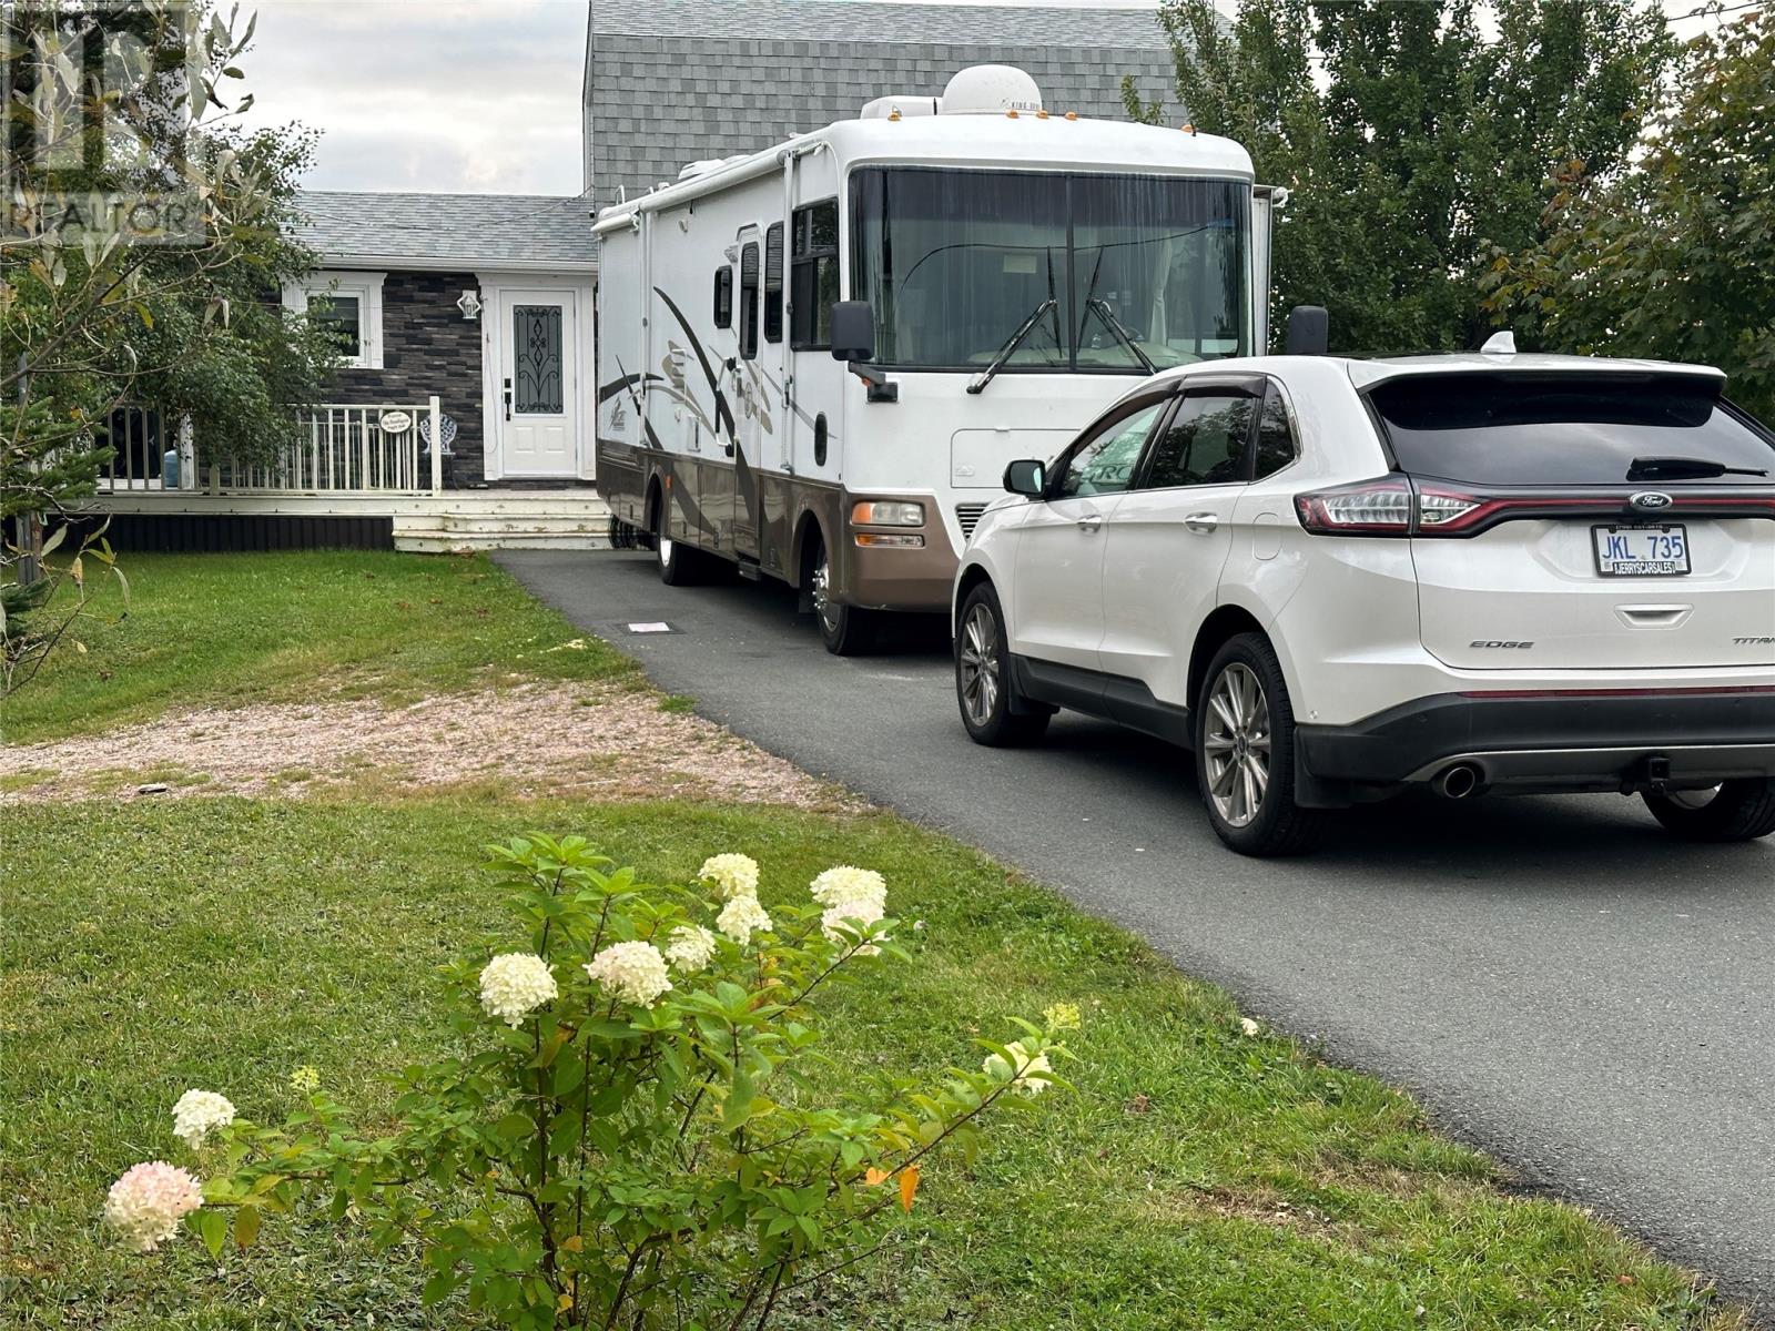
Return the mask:
[[[591,447],[591,206],[298,193],[321,266],[284,287],[343,348],[307,445],[266,465],[119,413],[101,508],[121,548],[602,545]],[[433,445],[435,444],[435,445]],[[178,458],[167,463],[167,445]]]

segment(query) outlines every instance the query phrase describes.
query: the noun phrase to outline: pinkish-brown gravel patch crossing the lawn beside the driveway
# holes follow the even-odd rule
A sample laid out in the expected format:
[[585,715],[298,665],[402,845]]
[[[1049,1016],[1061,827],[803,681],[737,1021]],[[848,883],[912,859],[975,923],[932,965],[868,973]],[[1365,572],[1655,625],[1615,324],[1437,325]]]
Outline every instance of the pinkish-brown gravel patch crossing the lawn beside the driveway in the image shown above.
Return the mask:
[[0,749],[0,804],[421,788],[504,795],[710,799],[854,811],[838,786],[660,696],[534,683],[378,701],[257,703],[162,717],[106,735]]

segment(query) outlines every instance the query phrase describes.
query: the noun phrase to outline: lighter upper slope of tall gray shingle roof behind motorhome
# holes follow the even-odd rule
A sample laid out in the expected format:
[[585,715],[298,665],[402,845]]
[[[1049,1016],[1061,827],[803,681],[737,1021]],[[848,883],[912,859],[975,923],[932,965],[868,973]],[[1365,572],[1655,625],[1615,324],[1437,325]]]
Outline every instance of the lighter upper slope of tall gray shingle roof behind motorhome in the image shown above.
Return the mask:
[[595,37],[790,37],[797,41],[1164,50],[1152,7],[925,5],[870,0],[591,0]]

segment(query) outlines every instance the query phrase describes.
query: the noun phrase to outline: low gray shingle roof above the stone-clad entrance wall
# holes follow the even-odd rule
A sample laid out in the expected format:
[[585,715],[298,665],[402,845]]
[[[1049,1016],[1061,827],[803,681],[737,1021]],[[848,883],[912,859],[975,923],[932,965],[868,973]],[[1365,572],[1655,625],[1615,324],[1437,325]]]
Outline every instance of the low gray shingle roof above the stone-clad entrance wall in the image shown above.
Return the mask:
[[378,268],[591,270],[591,204],[540,193],[300,190],[302,240],[328,263]]

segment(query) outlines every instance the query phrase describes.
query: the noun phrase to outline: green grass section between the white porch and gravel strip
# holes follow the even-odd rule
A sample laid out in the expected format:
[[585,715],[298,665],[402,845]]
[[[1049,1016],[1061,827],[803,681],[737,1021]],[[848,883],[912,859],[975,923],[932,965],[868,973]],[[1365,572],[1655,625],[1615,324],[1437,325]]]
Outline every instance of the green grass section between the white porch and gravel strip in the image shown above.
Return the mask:
[[[9,744],[92,733],[169,706],[410,701],[515,678],[634,678],[634,666],[485,557],[351,550],[124,555],[43,676],[7,699]],[[121,616],[121,618],[119,618]],[[563,644],[577,642],[577,648]]]

